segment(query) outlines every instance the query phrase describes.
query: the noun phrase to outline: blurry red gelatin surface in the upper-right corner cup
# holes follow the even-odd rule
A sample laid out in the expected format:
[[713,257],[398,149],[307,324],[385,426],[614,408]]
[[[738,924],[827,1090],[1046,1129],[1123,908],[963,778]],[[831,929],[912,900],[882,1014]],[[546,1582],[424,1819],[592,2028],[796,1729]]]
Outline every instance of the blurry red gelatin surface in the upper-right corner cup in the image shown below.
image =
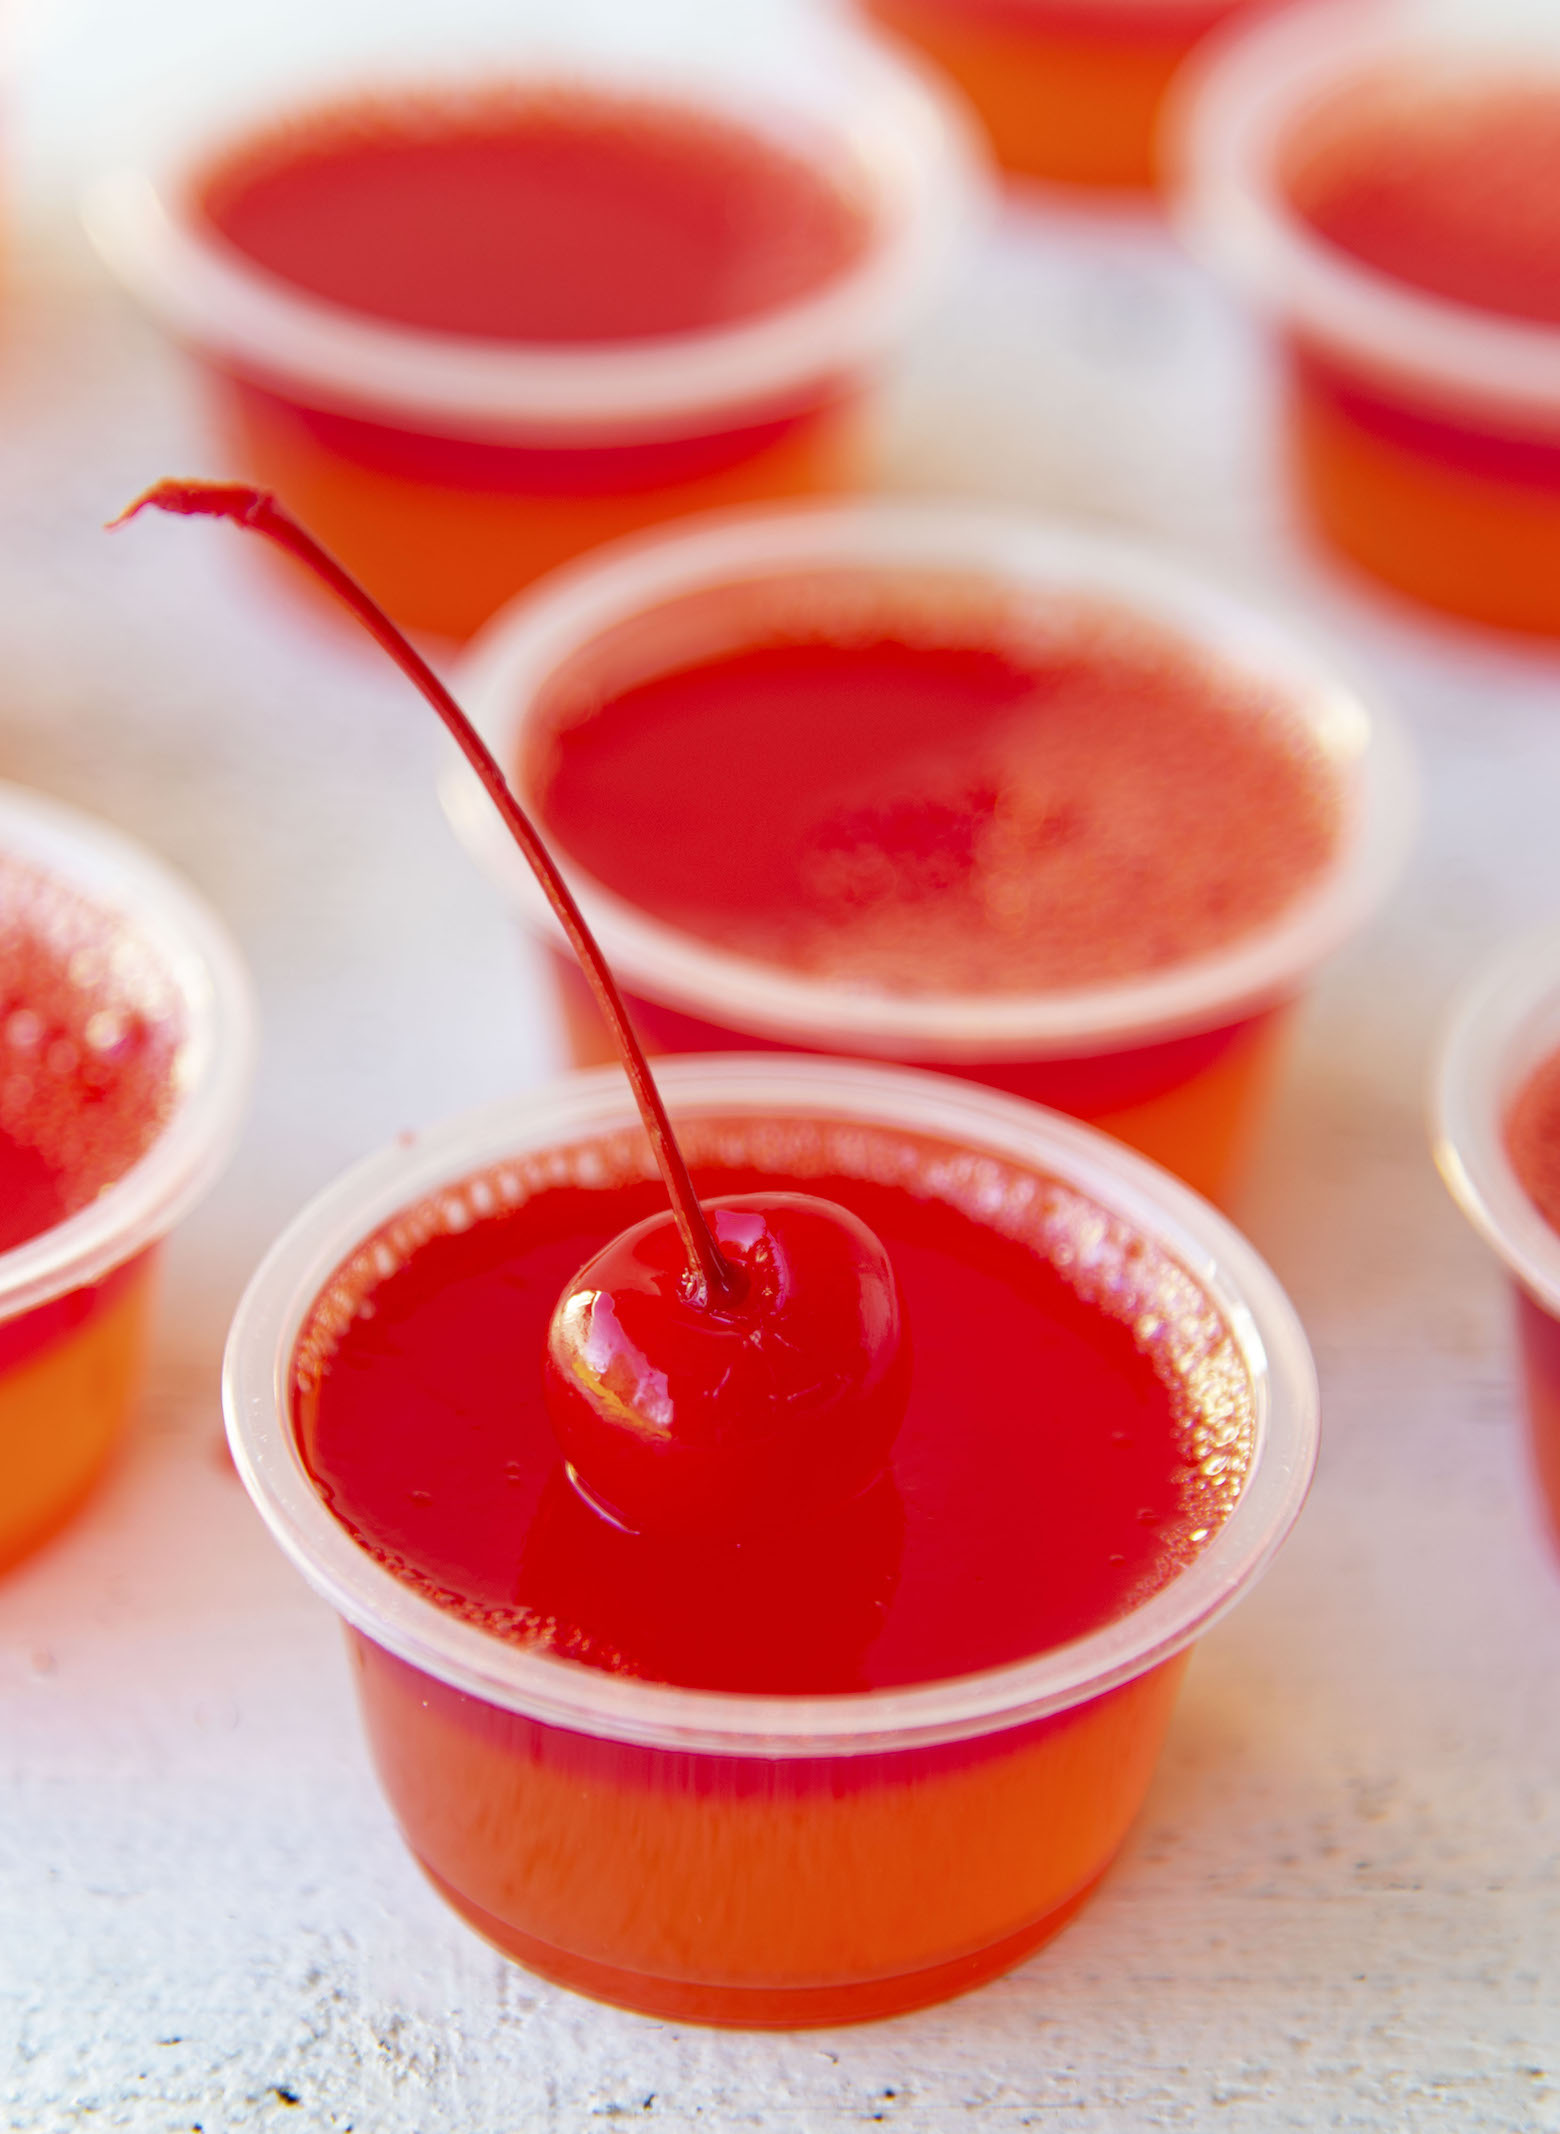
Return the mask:
[[1560,81],[1370,81],[1291,149],[1319,237],[1432,297],[1560,324]]

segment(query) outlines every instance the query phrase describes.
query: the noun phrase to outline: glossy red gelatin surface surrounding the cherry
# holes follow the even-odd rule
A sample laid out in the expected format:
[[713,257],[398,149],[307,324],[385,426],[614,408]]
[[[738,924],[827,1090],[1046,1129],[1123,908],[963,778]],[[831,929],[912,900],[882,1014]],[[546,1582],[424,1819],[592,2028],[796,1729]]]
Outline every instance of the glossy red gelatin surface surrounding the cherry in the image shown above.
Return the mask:
[[1127,1225],[888,1129],[681,1131],[702,1193],[822,1193],[888,1246],[913,1351],[890,1475],[743,1543],[625,1534],[583,1504],[544,1417],[542,1342],[572,1272],[664,1206],[621,1135],[410,1210],[318,1300],[295,1359],[299,1443],[391,1571],[602,1669],[843,1692],[1080,1637],[1223,1522],[1251,1385],[1210,1300]]

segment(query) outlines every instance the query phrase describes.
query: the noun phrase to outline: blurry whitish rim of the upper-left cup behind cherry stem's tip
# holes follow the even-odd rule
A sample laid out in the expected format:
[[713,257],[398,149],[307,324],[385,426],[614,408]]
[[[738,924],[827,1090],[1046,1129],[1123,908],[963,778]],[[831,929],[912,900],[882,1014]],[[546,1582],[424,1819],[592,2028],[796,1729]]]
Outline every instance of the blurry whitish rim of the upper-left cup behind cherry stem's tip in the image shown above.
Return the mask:
[[[81,216],[107,267],[175,337],[307,405],[497,444],[610,444],[785,412],[871,371],[903,339],[984,196],[973,128],[930,70],[845,19],[809,19],[807,36],[822,38],[811,79],[851,85],[849,122],[826,124],[869,181],[873,235],[860,260],[822,288],[728,327],[608,346],[493,344],[309,297],[205,237],[179,209],[190,177],[222,139],[233,143],[233,126],[109,171],[85,190]],[[514,81],[606,81],[619,94],[647,94],[644,79],[619,81],[604,55],[527,64],[521,51],[510,73]],[[359,66],[346,79],[356,94],[427,90],[427,68],[410,62],[397,70],[378,60],[371,73]],[[465,70],[452,83],[472,79]],[[666,83],[651,79],[649,92],[657,87],[717,113],[734,105],[730,90],[691,64],[672,66]],[[781,92],[764,83],[762,94]],[[790,81],[785,96],[796,102],[796,94]],[[807,94],[822,100],[817,87]],[[277,96],[245,115],[243,130],[260,130],[267,111],[277,117],[329,102],[329,85],[312,83],[301,98]]]

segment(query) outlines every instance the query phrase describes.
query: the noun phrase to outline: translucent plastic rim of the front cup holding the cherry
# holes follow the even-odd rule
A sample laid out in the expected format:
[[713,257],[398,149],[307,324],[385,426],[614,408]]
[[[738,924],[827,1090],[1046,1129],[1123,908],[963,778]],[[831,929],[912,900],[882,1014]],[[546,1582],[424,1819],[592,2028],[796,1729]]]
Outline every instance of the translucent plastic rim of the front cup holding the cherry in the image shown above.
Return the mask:
[[1300,1319],[1225,1216],[1091,1127],[945,1076],[719,1054],[664,1063],[659,1080],[674,1114],[860,1118],[1033,1163],[1161,1242],[1223,1310],[1253,1381],[1253,1464],[1229,1519],[1167,1586],[1088,1637],[952,1682],[843,1697],[634,1682],[527,1652],[423,1598],[337,1524],[303,1468],[290,1428],[299,1329],[335,1268],[397,1210],[506,1157],[634,1125],[623,1076],[608,1067],[405,1135],[354,1165],[284,1231],[239,1304],[222,1372],[235,1464],[271,1536],[352,1628],[465,1694],[576,1733],[732,1756],[834,1756],[969,1739],[1067,1709],[1172,1658],[1240,1598],[1300,1513],[1319,1417]]

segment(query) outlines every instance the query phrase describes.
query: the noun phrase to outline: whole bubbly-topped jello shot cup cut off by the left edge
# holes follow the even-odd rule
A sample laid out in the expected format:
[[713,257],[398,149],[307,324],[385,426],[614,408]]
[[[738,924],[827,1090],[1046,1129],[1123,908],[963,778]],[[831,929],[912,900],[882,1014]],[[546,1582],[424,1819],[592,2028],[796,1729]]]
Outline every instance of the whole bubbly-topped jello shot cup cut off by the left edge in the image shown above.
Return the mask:
[[0,785],[0,1568],[120,1438],[158,1242],[226,1161],[250,1050],[205,905],[105,824]]

